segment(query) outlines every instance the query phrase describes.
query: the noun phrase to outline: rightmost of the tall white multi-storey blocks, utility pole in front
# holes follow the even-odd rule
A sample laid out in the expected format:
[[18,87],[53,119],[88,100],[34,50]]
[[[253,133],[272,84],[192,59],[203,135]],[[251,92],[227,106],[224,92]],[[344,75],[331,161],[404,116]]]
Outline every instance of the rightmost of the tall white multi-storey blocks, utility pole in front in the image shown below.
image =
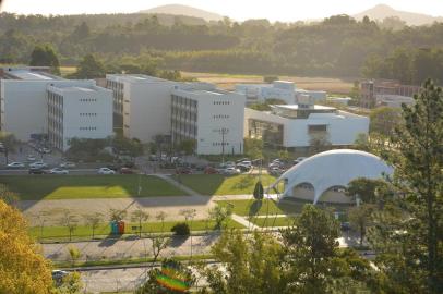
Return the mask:
[[176,86],[170,109],[172,142],[192,139],[199,155],[241,154],[244,99],[211,84]]

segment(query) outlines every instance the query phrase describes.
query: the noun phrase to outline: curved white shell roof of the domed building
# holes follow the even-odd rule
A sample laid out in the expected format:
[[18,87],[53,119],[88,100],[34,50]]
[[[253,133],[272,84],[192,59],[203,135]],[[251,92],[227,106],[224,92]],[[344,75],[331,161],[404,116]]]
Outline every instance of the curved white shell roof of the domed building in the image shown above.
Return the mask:
[[359,150],[337,149],[304,159],[282,174],[276,183],[287,179],[284,195],[301,183],[310,183],[315,204],[333,186],[346,187],[357,177],[380,179],[383,173],[392,174],[393,169],[381,158]]

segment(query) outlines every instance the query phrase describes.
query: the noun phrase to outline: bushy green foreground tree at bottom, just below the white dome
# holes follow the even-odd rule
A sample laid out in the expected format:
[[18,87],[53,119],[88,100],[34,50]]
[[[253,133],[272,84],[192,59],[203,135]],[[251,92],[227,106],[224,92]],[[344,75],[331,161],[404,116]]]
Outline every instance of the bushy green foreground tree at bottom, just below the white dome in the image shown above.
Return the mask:
[[343,293],[339,281],[364,289],[370,265],[352,250],[339,250],[339,225],[330,211],[306,205],[282,236],[289,293]]

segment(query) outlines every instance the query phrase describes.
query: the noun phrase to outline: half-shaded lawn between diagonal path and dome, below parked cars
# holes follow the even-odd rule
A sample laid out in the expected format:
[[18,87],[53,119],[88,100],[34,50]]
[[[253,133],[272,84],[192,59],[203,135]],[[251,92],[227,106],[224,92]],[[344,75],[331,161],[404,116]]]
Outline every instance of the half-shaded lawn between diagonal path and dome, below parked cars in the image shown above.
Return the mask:
[[[181,174],[173,175],[175,180],[181,182],[193,191],[203,195],[252,195],[259,175],[240,174],[225,176],[222,174]],[[275,181],[275,176],[263,174],[262,184],[267,187]]]

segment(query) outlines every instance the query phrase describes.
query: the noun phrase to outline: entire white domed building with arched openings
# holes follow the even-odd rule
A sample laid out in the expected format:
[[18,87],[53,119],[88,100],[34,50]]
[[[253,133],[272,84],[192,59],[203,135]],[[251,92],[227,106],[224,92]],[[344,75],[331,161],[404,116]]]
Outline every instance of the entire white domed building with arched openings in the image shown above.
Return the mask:
[[381,179],[391,175],[393,169],[381,158],[351,149],[330,150],[314,155],[290,168],[270,187],[279,187],[283,197],[331,203],[349,203],[344,195],[348,183],[358,177]]

